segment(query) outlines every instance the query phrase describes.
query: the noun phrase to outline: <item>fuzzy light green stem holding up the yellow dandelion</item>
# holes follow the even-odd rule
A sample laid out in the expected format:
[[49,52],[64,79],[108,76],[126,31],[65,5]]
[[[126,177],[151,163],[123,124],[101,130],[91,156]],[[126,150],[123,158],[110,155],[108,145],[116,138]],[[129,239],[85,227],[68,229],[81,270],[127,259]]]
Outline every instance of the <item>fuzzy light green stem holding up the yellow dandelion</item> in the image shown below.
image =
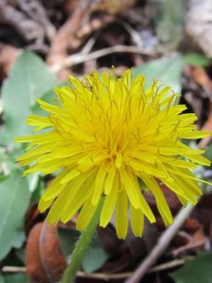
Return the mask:
[[81,236],[78,242],[76,243],[76,247],[74,248],[73,253],[71,255],[71,260],[68,266],[66,267],[63,277],[61,278],[61,283],[73,283],[73,280],[76,277],[76,272],[78,272],[81,267],[83,258],[86,255],[88,247],[90,246],[90,242],[93,238],[93,234],[95,233],[95,230],[98,226],[103,202],[104,200],[102,197],[98,208],[96,209],[95,214],[93,215],[93,218],[90,220],[90,223],[88,224],[86,229],[84,229],[81,233]]

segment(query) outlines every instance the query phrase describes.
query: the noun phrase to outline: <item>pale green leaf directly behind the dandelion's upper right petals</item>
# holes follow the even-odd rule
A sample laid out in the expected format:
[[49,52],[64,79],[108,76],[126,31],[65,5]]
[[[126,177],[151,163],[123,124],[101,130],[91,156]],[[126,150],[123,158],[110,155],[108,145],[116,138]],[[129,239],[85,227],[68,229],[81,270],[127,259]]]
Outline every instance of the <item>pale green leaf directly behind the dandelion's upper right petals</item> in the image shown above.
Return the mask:
[[171,86],[175,93],[181,93],[182,57],[177,55],[170,59],[156,59],[152,62],[134,67],[134,79],[138,74],[146,76],[146,88],[151,86],[154,78],[155,80],[161,80],[159,85],[164,83],[166,86]]

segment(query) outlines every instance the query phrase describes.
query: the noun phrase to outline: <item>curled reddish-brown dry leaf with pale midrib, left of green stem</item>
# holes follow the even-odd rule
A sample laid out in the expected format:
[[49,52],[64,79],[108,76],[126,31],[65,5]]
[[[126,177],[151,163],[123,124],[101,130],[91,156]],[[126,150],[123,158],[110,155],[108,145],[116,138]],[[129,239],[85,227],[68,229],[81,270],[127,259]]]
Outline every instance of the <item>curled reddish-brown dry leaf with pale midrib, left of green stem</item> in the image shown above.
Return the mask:
[[31,229],[26,244],[26,270],[32,283],[58,282],[66,269],[57,227],[40,222]]

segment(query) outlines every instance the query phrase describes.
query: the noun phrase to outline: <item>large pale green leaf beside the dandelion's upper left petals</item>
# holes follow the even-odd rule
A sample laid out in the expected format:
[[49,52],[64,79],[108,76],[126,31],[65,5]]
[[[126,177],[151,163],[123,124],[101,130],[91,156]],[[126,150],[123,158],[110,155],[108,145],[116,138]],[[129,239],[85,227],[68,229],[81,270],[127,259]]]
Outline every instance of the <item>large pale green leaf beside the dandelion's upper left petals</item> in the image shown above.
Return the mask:
[[32,127],[25,125],[30,107],[57,83],[56,76],[33,52],[24,51],[16,59],[1,91],[4,109],[1,145],[13,144],[14,137],[30,134]]

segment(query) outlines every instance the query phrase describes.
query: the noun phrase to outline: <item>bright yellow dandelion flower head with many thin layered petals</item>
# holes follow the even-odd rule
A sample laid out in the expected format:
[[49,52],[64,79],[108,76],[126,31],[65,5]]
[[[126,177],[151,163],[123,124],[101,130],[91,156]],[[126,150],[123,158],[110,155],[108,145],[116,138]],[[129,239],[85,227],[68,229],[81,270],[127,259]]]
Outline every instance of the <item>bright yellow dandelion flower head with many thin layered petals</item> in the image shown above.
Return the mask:
[[[158,183],[174,191],[185,206],[196,203],[201,190],[191,168],[196,163],[210,165],[204,150],[192,150],[180,141],[206,137],[208,132],[194,131],[195,114],[181,114],[185,105],[177,105],[179,95],[158,81],[145,89],[145,76],[132,79],[125,71],[120,79],[114,74],[93,72],[80,81],[70,76],[69,87],[55,88],[55,105],[37,99],[47,117],[31,115],[26,124],[37,126],[33,132],[49,132],[20,137],[31,142],[17,161],[28,168],[24,175],[42,171],[52,173],[63,168],[49,185],[38,208],[52,204],[47,221],[69,221],[81,209],[76,228],[82,231],[90,222],[102,195],[105,202],[100,226],[107,226],[116,207],[116,230],[125,238],[128,203],[131,229],[135,236],[143,232],[143,215],[154,222],[143,190],[153,192],[165,225],[172,215]],[[73,87],[73,86],[74,87]],[[31,150],[30,150],[31,149]]]

